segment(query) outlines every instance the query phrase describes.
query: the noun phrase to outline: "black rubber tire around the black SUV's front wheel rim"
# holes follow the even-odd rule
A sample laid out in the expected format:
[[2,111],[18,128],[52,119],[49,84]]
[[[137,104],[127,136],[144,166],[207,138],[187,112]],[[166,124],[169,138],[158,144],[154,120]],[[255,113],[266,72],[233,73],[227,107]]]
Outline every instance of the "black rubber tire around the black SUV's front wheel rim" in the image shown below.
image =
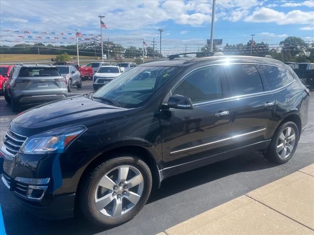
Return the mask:
[[[98,183],[110,170],[121,165],[130,165],[136,167],[143,176],[143,191],[137,204],[131,209],[118,217],[105,216],[96,208],[95,193]],[[97,225],[112,227],[131,220],[146,204],[152,190],[152,174],[150,168],[137,156],[123,154],[111,158],[97,165],[82,180],[79,188],[79,206],[81,211],[93,223]]]

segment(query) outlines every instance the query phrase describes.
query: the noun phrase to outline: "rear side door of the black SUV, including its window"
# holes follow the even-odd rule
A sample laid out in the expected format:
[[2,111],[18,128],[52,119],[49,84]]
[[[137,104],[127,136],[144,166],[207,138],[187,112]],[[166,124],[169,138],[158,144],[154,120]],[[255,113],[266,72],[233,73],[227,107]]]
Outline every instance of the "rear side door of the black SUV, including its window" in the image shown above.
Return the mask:
[[224,65],[231,90],[232,125],[228,157],[242,151],[263,149],[270,141],[275,120],[275,96],[265,91],[254,64]]

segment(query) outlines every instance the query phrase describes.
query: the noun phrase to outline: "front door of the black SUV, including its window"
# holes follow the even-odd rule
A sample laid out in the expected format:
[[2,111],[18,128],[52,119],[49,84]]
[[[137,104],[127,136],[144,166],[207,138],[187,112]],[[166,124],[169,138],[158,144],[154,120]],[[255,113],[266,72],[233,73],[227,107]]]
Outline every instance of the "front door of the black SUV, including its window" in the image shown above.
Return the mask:
[[219,66],[197,69],[172,89],[187,96],[192,110],[169,109],[161,112],[163,173],[177,174],[222,160],[227,156],[231,116],[224,77]]

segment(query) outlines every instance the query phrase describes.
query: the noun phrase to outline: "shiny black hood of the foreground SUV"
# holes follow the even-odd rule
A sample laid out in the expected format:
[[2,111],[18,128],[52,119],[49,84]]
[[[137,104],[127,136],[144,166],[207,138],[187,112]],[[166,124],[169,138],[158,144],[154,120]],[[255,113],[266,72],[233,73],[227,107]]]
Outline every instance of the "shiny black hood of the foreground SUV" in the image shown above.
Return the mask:
[[30,136],[66,126],[85,125],[115,118],[127,109],[110,106],[85,96],[76,96],[36,106],[19,114],[10,129]]

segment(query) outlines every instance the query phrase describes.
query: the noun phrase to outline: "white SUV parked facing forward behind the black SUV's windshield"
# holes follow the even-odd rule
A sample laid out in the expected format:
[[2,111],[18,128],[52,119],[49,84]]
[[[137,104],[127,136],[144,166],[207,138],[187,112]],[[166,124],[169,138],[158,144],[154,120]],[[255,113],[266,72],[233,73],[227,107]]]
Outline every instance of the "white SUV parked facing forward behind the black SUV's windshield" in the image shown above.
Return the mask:
[[93,76],[94,90],[104,86],[112,81],[115,77],[121,74],[121,70],[118,66],[102,66]]

